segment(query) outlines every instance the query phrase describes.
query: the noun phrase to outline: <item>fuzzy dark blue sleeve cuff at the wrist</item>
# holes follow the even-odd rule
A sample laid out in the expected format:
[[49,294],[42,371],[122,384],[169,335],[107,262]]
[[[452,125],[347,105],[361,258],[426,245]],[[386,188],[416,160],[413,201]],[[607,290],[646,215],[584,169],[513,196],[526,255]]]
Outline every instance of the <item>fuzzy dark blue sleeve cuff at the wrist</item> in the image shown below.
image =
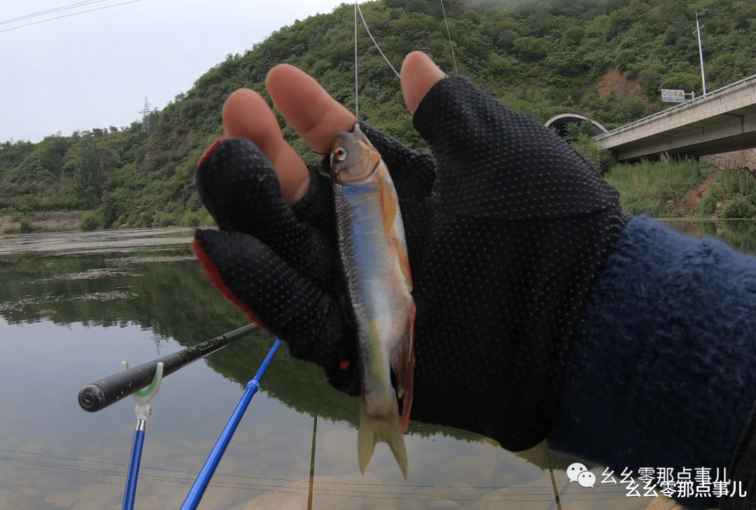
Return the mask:
[[550,447],[615,474],[704,467],[711,480],[717,468],[730,477],[754,400],[756,259],[633,219],[575,330]]

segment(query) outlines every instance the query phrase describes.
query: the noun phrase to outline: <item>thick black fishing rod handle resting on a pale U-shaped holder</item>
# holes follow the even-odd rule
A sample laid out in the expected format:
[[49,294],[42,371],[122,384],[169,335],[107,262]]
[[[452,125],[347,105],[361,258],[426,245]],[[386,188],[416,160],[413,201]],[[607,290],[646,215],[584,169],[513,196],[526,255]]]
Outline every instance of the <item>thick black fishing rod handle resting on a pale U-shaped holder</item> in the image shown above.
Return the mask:
[[163,363],[163,377],[171,375],[191,362],[203,359],[205,356],[226,347],[231,342],[246,337],[259,329],[260,327],[256,324],[248,324],[212,338],[212,340],[187,347],[178,351],[178,353],[153,359],[153,361],[135,366],[124,372],[98,379],[79,390],[79,406],[88,412],[105,409],[110,404],[116,403],[140,388],[148,386],[155,377],[158,363]]

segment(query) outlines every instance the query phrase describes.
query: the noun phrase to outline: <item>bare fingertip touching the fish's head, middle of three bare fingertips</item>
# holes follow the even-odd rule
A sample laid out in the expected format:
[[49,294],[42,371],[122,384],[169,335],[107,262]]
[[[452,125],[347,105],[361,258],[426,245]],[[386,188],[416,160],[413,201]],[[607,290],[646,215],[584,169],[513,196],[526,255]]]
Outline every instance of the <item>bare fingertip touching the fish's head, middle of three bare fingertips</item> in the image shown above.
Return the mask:
[[289,125],[315,152],[330,151],[336,135],[349,131],[357,122],[354,114],[311,76],[289,64],[271,69],[265,86]]

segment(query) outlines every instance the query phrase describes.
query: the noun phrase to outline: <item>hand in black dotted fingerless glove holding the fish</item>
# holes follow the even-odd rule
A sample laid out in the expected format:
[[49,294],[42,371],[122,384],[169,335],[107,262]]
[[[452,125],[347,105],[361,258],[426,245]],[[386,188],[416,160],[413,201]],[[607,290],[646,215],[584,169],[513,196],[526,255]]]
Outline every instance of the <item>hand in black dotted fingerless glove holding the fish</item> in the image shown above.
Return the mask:
[[[416,52],[401,83],[432,152],[364,131],[392,174],[407,236],[417,305],[411,418],[529,448],[559,412],[575,322],[627,219],[617,192],[561,138],[466,79],[445,77]],[[314,151],[327,153],[355,121],[293,67],[271,70],[268,91]],[[230,99],[224,114],[228,134],[257,145],[227,138],[200,160],[200,197],[221,232],[197,231],[197,256],[226,297],[293,356],[355,394],[330,182],[305,172],[277,123],[258,127],[272,116],[259,101]]]

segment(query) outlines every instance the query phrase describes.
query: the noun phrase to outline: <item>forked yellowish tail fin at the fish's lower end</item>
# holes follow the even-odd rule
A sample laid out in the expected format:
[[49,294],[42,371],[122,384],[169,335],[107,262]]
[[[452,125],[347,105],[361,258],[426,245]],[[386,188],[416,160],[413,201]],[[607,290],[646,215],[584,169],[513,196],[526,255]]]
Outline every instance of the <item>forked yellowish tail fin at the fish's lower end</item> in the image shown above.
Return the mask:
[[[396,402],[396,401],[394,401]],[[401,475],[407,480],[407,450],[404,449],[404,436],[399,430],[399,412],[396,403],[389,416],[370,417],[367,404],[360,399],[360,431],[357,434],[357,458],[360,472],[364,476],[367,463],[373,457],[376,443],[388,443],[394,458],[401,469]]]

